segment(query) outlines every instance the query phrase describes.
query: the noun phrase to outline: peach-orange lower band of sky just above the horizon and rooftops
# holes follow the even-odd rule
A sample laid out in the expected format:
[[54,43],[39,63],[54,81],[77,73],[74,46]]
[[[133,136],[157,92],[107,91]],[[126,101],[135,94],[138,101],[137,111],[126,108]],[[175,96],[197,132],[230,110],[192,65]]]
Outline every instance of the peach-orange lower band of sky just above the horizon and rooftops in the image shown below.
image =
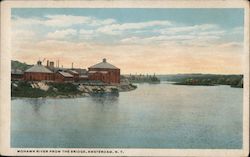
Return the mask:
[[[235,43],[236,44],[236,43]],[[60,59],[60,64],[87,68],[102,58],[124,73],[241,73],[242,53],[228,44],[214,47],[178,45],[105,45],[84,42],[46,40],[23,44],[13,58],[34,64],[38,57]],[[225,45],[224,45],[225,46]],[[24,53],[25,52],[25,53]],[[230,55],[229,55],[230,54]],[[121,59],[122,58],[122,59]],[[145,64],[147,63],[147,64]],[[136,67],[136,68],[134,68]]]

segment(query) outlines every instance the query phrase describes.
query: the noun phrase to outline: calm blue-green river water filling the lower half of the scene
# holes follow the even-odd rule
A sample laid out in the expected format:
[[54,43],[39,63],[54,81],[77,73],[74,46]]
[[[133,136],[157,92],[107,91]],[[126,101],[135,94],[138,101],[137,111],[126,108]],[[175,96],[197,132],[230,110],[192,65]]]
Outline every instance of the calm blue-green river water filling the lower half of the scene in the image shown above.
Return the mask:
[[15,99],[11,146],[241,148],[243,90],[141,84],[119,97]]

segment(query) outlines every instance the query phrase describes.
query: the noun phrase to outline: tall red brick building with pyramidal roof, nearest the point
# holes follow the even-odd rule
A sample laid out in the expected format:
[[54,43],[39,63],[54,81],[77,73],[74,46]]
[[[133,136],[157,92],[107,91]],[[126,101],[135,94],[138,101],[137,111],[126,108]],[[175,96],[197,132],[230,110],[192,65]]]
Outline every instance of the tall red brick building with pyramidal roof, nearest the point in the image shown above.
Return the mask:
[[102,62],[88,68],[89,80],[98,80],[108,84],[120,83],[120,69],[107,62]]

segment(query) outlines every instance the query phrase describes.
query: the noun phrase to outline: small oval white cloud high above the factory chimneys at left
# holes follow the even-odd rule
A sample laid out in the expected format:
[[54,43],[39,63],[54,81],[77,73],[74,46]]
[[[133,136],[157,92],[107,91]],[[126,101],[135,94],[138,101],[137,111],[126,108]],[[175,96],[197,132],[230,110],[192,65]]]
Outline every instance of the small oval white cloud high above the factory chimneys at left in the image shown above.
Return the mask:
[[58,30],[55,32],[50,32],[47,35],[49,39],[65,39],[66,37],[76,35],[77,31],[75,29],[65,29],[65,30]]

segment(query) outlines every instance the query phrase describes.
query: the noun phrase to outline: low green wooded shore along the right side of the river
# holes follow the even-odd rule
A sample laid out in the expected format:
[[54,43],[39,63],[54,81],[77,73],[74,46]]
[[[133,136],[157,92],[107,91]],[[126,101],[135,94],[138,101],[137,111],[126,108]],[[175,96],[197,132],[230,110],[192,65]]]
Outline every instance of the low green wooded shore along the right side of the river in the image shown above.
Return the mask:
[[243,88],[243,75],[218,75],[218,74],[177,74],[158,75],[161,80],[173,81],[180,85],[230,85]]

